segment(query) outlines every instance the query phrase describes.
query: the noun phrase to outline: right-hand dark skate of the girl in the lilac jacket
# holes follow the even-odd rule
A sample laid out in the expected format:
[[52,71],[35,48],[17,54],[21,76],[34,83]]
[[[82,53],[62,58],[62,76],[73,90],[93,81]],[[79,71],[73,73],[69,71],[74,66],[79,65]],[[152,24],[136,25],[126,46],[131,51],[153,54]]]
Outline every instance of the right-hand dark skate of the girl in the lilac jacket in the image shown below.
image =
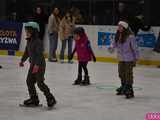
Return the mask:
[[132,85],[126,85],[125,96],[127,99],[134,98],[134,91]]

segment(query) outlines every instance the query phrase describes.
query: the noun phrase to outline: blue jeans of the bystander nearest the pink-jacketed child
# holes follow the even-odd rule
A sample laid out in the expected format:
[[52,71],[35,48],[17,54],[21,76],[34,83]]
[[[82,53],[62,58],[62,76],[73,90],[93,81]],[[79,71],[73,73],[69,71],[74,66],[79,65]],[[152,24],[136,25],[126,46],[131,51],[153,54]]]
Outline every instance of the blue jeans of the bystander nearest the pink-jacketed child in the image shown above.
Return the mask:
[[68,42],[68,58],[72,54],[73,39],[72,39],[72,37],[68,37],[68,39],[62,40],[62,48],[61,48],[61,52],[60,52],[60,59],[61,60],[64,60],[64,52],[66,49],[67,42]]

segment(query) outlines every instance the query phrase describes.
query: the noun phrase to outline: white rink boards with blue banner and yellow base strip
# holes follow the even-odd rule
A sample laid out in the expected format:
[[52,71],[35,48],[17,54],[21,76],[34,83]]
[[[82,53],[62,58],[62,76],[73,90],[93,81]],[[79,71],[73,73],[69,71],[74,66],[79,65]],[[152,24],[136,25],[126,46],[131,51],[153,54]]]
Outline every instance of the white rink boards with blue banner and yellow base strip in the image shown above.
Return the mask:
[[[85,31],[88,34],[88,38],[91,42],[92,48],[97,57],[97,61],[102,61],[102,62],[117,61],[116,52],[110,53],[107,50],[111,41],[114,40],[114,35],[117,28],[116,26],[110,26],[110,25],[103,25],[103,26],[102,25],[78,25],[78,26],[82,26],[85,28]],[[1,29],[2,28],[0,28],[0,30]],[[160,54],[152,51],[153,47],[155,46],[155,42],[157,40],[159,31],[160,31],[160,27],[152,27],[151,30],[147,32],[139,31],[137,36],[137,43],[140,51],[139,64],[147,64],[147,65],[160,64]],[[18,51],[9,50],[9,49],[0,50],[0,54],[7,55],[8,53],[12,53],[11,55],[22,55],[25,49],[25,45],[26,45],[26,40],[25,40],[25,31],[23,26],[22,32],[21,32],[19,50]],[[44,48],[45,48],[44,52],[47,55],[49,51],[49,39],[48,39],[47,26],[46,26],[45,36],[44,36]],[[61,40],[59,39],[57,53],[59,53],[60,49],[61,49]]]

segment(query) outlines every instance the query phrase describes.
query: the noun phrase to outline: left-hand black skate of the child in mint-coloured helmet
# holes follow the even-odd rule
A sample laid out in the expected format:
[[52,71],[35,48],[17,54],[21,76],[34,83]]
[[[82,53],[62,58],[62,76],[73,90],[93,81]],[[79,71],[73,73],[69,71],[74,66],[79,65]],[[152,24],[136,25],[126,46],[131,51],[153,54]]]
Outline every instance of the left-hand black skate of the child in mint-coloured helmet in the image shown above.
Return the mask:
[[38,106],[39,105],[38,96],[32,96],[31,98],[25,100],[23,104],[26,106]]

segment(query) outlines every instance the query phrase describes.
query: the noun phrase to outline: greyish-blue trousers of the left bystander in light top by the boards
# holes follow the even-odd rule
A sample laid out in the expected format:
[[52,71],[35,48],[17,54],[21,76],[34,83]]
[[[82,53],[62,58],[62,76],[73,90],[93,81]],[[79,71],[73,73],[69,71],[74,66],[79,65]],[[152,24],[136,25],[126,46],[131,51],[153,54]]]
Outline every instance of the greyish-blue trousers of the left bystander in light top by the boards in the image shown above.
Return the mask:
[[57,59],[56,50],[58,45],[58,32],[49,34],[49,60]]

